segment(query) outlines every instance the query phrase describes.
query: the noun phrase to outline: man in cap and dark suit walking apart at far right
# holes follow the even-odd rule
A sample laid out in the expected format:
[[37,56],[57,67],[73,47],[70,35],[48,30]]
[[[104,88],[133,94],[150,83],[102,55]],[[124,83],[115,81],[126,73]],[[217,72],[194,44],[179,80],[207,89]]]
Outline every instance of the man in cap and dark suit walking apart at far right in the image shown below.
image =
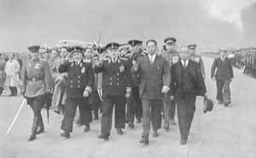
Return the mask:
[[234,77],[232,61],[225,57],[226,52],[225,49],[219,50],[220,57],[214,59],[211,71],[211,78],[213,81],[216,80],[217,85],[216,99],[218,99],[218,104],[223,104],[224,102],[224,106],[228,106],[231,103],[230,82]]

